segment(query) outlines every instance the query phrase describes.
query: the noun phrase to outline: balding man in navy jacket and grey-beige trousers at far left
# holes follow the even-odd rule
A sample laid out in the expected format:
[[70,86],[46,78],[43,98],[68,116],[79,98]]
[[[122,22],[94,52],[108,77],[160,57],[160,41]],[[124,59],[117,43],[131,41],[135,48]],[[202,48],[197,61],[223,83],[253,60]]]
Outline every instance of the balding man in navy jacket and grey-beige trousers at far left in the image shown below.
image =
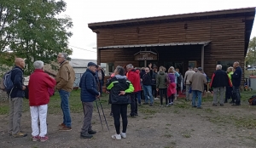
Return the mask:
[[9,94],[9,134],[13,137],[26,137],[27,134],[20,132],[20,118],[22,112],[22,102],[25,96],[26,87],[23,84],[23,69],[25,61],[21,58],[15,59],[15,68],[11,72],[11,81],[14,88]]

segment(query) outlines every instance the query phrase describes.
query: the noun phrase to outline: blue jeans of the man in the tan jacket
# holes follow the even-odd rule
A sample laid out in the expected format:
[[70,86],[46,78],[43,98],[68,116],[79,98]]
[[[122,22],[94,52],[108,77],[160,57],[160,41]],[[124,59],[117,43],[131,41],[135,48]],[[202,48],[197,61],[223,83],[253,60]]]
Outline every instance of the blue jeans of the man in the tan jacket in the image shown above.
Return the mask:
[[61,110],[63,113],[63,123],[66,125],[66,127],[71,127],[71,117],[68,103],[70,93],[62,89],[59,90],[59,93],[61,95]]

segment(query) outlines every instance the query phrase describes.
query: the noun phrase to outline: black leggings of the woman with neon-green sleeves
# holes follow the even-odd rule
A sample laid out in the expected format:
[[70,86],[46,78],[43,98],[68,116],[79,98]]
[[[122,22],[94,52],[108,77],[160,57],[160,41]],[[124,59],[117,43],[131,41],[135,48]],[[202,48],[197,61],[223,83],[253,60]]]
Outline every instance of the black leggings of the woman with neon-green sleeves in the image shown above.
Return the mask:
[[113,122],[114,122],[114,128],[116,131],[116,134],[120,134],[120,115],[122,117],[123,122],[123,133],[126,133],[126,128],[128,124],[127,120],[127,105],[117,105],[113,104],[111,105],[112,111],[113,111]]

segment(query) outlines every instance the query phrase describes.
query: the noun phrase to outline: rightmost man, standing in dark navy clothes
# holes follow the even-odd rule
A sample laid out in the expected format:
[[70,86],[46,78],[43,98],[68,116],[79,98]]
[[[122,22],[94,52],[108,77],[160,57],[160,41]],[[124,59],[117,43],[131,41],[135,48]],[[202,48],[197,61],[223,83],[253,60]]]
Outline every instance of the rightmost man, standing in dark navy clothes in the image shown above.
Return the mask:
[[233,105],[241,105],[241,95],[240,95],[239,87],[241,85],[242,70],[238,61],[234,62],[233,64],[233,71],[234,73],[233,75],[231,75],[232,84],[233,84],[233,95],[234,95],[233,103],[235,103]]

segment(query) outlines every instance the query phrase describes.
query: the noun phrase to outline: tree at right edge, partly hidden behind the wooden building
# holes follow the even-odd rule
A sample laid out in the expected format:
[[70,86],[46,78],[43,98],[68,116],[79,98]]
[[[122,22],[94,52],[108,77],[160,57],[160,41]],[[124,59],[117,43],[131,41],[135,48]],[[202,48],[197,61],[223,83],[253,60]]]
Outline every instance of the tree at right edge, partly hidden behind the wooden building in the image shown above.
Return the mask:
[[246,61],[248,62],[249,65],[256,64],[256,37],[253,37],[250,40]]

